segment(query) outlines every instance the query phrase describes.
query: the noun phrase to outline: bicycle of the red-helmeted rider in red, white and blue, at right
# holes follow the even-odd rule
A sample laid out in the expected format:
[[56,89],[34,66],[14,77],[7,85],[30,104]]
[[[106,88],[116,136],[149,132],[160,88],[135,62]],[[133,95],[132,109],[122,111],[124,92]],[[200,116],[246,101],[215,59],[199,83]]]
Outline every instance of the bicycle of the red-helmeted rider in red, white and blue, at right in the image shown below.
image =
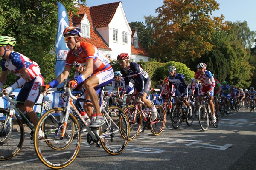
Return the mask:
[[209,128],[209,125],[211,124],[215,128],[218,127],[219,117],[218,117],[218,114],[216,113],[215,114],[216,122],[212,123],[212,113],[208,103],[209,96],[207,94],[202,96],[203,97],[201,99],[201,104],[199,105],[199,108],[198,108],[198,121],[202,130],[207,131]]

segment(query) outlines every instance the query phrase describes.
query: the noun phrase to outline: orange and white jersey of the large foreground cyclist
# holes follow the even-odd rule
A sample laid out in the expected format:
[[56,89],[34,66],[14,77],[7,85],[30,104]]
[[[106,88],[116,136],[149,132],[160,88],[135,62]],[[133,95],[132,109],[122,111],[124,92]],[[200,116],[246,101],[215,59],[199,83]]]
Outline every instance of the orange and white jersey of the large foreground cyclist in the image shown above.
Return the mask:
[[93,74],[99,71],[108,70],[111,68],[110,60],[102,54],[98,48],[87,42],[80,42],[78,51],[70,50],[66,57],[66,67],[72,67],[73,62],[76,61],[82,65],[89,59],[93,59]]

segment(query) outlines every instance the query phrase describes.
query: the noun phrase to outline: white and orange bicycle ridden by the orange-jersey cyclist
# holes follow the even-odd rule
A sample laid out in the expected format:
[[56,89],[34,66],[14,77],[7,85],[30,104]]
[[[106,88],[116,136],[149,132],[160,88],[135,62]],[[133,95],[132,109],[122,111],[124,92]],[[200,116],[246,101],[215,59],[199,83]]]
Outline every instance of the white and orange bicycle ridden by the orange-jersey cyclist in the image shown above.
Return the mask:
[[[87,130],[87,143],[90,147],[100,147],[111,154],[118,155],[125,150],[129,139],[129,123],[122,109],[102,101],[101,112],[105,124],[99,128],[91,128],[76,108],[73,101],[89,101],[73,96],[71,89],[66,87],[52,88],[49,91],[67,91],[67,101],[62,108],[52,108],[39,120],[35,129],[35,151],[40,161],[47,167],[60,169],[70,165],[76,158],[81,144],[81,133],[76,115]],[[39,129],[44,132],[44,138],[38,136]]]

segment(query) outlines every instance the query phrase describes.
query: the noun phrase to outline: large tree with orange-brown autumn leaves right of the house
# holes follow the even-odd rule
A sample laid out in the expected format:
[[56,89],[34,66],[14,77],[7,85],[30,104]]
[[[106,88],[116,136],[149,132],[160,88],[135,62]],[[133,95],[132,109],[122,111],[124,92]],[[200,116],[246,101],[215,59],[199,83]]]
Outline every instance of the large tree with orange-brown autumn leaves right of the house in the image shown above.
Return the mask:
[[154,32],[157,45],[151,51],[160,54],[163,61],[175,59],[189,64],[210,51],[212,34],[218,29],[227,28],[224,17],[211,17],[218,9],[215,0],[168,0],[157,8],[158,20]]

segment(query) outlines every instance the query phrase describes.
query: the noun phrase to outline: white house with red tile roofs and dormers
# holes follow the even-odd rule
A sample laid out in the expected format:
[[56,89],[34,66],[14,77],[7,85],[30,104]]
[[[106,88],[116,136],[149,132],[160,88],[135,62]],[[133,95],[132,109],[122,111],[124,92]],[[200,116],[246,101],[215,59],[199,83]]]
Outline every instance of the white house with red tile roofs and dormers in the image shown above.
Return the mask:
[[81,28],[82,41],[95,45],[112,60],[128,53],[131,62],[148,61],[150,56],[138,43],[136,30],[131,30],[121,2],[76,7],[79,16],[71,14],[70,26]]

